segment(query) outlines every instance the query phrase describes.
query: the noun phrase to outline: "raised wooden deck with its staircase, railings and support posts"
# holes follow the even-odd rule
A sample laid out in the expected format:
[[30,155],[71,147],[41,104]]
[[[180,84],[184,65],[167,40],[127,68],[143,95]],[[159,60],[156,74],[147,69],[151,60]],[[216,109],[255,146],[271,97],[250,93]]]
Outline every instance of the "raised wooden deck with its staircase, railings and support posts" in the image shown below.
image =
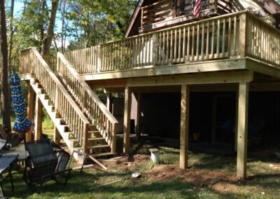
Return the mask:
[[[92,88],[118,87],[125,93],[125,153],[130,147],[132,92],[176,88],[181,92],[182,169],[188,167],[190,90],[207,90],[214,88],[212,85],[218,89],[230,88],[238,96],[237,175],[246,177],[248,90],[272,89],[272,86],[279,90],[279,55],[280,31],[242,11],[74,50],[65,57],[58,53],[56,60],[51,57],[44,60],[38,51],[30,48],[21,53],[20,73],[23,80],[30,81],[29,92],[33,89],[38,96],[36,111],[41,112],[39,108],[43,104],[64,139],[69,139],[67,126],[79,150],[104,146],[108,148],[104,151],[106,156],[116,152],[118,121],[110,112],[110,99],[105,107]],[[54,64],[57,64],[56,72]],[[32,102],[30,97],[29,107]],[[36,113],[36,117],[40,117],[40,113]],[[38,119],[36,128],[40,127],[39,123]],[[99,136],[90,137],[94,133]],[[99,143],[97,139],[104,142]],[[90,142],[93,146],[89,146]],[[68,145],[74,149],[71,143]]]

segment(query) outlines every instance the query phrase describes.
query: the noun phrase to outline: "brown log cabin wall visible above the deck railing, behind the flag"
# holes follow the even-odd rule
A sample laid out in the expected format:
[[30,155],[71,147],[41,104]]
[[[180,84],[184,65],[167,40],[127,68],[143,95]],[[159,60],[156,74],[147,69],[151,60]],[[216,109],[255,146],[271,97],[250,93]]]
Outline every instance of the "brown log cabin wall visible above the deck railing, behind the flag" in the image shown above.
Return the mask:
[[[179,24],[178,21],[172,21],[172,19],[183,16],[188,16],[187,20],[189,21],[197,20],[193,16],[194,5],[194,0],[162,0],[142,6],[141,27],[139,27],[139,32],[149,32],[152,29],[160,29],[157,27],[148,28],[149,25],[159,22],[168,21],[165,26],[161,25],[160,27],[171,27]],[[209,18],[217,14],[231,13],[232,3],[231,0],[202,0],[200,11],[202,12],[200,19]],[[183,21],[186,21],[186,19]]]

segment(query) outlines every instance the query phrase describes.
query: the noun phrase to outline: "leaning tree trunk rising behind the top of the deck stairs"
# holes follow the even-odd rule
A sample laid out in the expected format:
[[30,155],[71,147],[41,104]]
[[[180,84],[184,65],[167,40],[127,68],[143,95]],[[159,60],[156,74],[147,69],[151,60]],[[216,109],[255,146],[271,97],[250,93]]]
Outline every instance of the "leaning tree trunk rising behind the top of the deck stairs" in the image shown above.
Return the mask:
[[55,28],[55,18],[57,15],[57,7],[59,0],[52,0],[52,10],[50,13],[50,20],[48,22],[48,29],[45,38],[43,39],[41,55],[48,55],[50,53],[50,46],[52,44],[53,30]]

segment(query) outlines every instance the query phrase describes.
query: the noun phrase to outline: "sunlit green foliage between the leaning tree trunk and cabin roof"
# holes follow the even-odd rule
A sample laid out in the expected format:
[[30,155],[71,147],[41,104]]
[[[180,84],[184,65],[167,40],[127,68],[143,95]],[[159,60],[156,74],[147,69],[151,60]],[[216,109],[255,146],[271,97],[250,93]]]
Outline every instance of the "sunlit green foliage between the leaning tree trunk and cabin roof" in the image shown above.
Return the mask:
[[66,28],[66,35],[73,37],[70,49],[74,49],[120,39],[136,1],[79,0],[67,1],[67,4],[68,10],[64,14],[70,25]]

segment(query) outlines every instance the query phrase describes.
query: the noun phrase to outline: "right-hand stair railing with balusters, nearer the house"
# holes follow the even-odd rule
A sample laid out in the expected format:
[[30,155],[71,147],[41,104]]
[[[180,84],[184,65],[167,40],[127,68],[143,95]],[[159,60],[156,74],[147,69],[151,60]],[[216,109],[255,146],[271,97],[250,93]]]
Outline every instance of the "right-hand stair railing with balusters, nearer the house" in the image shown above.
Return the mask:
[[116,152],[116,124],[118,121],[104,103],[93,92],[82,76],[78,74],[62,53],[57,53],[57,71],[82,107],[83,111]]

